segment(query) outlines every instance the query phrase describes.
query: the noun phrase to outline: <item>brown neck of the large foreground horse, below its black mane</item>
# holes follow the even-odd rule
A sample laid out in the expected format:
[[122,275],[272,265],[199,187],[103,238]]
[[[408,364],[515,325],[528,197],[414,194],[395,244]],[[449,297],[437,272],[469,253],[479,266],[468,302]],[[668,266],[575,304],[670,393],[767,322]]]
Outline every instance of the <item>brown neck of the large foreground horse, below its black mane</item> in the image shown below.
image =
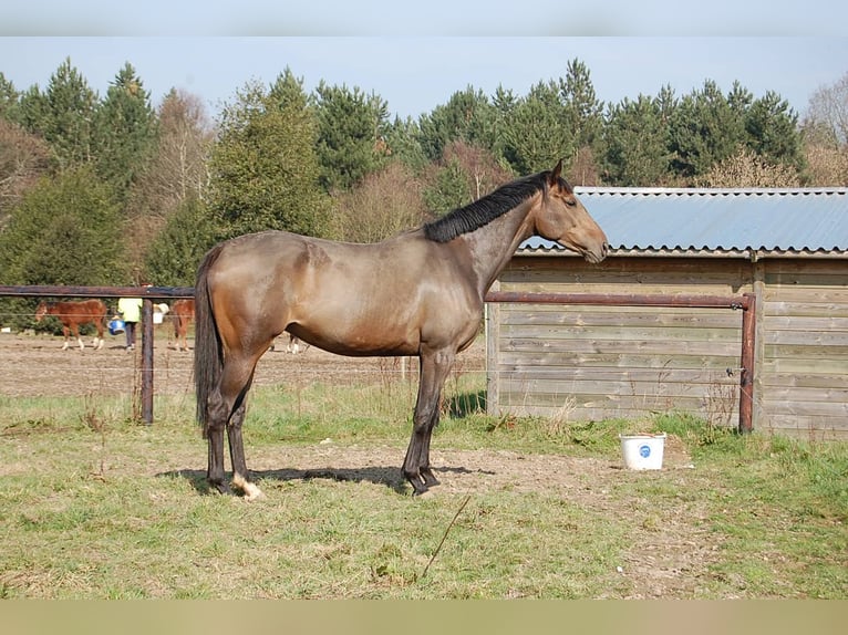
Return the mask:
[[531,201],[527,200],[488,225],[462,237],[472,254],[480,296],[485,295],[497,280],[518,246],[532,236],[532,227],[527,219],[530,206]]

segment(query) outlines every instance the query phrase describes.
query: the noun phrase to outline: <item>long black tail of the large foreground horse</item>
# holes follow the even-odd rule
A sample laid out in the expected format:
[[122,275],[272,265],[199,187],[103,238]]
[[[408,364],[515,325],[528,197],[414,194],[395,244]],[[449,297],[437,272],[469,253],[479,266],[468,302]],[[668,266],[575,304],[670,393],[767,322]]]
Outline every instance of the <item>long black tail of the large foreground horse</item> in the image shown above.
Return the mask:
[[220,244],[210,249],[197,269],[195,282],[195,394],[197,396],[197,423],[204,438],[208,429],[207,404],[209,394],[220,379],[224,367],[218,326],[211,312],[209,298],[209,269],[220,254]]

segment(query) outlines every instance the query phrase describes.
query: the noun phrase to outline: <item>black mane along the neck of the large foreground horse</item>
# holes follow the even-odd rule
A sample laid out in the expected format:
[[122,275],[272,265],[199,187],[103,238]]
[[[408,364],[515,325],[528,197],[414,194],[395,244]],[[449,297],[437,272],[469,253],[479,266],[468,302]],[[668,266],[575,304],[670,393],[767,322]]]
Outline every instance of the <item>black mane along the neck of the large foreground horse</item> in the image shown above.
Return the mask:
[[448,242],[462,233],[488,225],[514,209],[540,189],[546,189],[550,171],[541,171],[508,183],[474,202],[454,209],[424,225],[424,236],[435,242]]

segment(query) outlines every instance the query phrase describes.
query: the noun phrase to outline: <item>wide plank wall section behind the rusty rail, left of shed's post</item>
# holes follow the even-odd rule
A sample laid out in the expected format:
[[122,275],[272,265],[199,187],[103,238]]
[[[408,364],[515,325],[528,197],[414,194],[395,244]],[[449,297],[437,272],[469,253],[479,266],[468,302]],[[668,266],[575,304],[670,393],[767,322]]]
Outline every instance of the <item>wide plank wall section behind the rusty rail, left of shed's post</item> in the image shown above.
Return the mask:
[[[500,291],[740,295],[745,260],[517,257]],[[490,410],[573,420],[696,413],[738,425],[742,313],[499,304],[489,306]],[[733,372],[728,376],[727,368]]]

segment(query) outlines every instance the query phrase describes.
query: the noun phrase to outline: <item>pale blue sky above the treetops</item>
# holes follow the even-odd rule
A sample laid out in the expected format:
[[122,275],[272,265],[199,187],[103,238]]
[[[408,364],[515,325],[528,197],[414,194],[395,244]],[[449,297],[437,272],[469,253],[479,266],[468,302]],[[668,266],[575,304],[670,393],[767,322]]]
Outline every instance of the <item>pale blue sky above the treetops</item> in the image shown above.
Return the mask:
[[321,80],[358,86],[402,117],[468,85],[526,94],[565,76],[572,59],[604,102],[665,84],[681,96],[707,79],[726,93],[738,80],[802,115],[817,89],[848,73],[848,8],[828,0],[716,0],[706,11],[670,0],[596,0],[583,10],[550,0],[11,4],[0,8],[0,72],[18,90],[44,87],[70,56],[103,95],[130,62],[154,105],[179,87],[213,116],[246,82],[272,82],[286,66],[308,91]]

